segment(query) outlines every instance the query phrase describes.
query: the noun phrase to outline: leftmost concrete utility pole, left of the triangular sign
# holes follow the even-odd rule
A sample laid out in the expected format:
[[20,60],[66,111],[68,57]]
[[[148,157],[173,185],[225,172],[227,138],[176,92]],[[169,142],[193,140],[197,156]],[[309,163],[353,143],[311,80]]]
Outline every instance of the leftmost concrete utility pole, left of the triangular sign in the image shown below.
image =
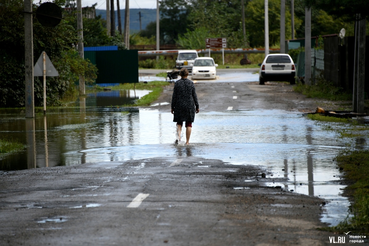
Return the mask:
[[24,0],[25,118],[35,117],[32,0]]

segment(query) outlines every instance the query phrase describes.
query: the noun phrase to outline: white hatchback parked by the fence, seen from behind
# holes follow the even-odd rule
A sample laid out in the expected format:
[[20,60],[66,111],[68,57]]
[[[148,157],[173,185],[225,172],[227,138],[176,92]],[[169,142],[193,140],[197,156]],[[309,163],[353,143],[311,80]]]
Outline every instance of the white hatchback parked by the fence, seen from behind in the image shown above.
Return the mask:
[[269,54],[259,65],[259,84],[266,81],[287,81],[295,84],[296,69],[289,54]]

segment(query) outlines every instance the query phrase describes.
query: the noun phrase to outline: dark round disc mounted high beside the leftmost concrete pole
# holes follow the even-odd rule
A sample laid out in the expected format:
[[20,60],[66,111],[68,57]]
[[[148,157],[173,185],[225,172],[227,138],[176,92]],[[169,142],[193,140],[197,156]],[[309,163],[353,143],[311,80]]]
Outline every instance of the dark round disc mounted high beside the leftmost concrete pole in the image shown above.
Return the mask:
[[62,20],[62,10],[55,3],[43,3],[36,10],[36,18],[44,27],[56,27]]

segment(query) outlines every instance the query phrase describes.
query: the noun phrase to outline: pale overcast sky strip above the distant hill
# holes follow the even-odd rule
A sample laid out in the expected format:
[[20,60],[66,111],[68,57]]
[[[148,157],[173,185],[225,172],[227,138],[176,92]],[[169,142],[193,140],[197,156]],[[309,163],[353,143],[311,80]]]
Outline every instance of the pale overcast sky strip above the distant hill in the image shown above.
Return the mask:
[[[41,0],[42,3],[50,0]],[[34,3],[38,3],[39,0],[34,0]],[[92,6],[97,3],[97,9],[106,10],[106,0],[82,0],[82,7]],[[117,0],[114,0],[114,9],[117,10]],[[119,0],[119,7],[125,8],[125,0]],[[156,0],[130,0],[130,8],[156,8]]]

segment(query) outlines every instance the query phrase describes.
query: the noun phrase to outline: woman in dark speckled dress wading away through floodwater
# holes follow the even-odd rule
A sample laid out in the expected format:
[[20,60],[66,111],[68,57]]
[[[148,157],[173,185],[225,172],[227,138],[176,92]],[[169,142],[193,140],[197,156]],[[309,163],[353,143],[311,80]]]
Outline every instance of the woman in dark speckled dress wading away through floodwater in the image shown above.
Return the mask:
[[191,80],[187,79],[188,70],[183,67],[179,75],[182,79],[177,80],[174,84],[172,109],[170,110],[174,114],[173,122],[177,122],[178,139],[176,140],[176,145],[178,144],[178,140],[181,140],[183,121],[186,122],[186,144],[190,144],[189,141],[195,112],[196,114],[200,112],[195,85]]

